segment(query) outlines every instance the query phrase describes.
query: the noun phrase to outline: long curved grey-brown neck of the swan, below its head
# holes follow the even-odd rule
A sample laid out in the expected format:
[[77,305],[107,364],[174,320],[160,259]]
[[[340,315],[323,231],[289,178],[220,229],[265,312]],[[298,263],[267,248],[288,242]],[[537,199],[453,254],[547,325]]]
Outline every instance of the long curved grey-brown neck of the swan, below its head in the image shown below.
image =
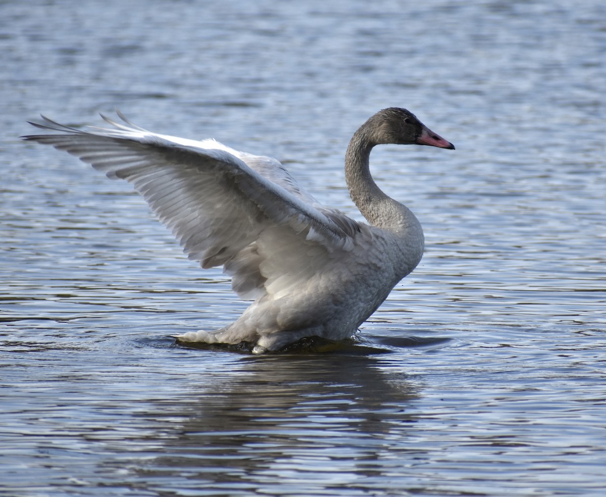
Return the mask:
[[385,195],[370,175],[370,152],[375,145],[364,126],[349,142],[345,154],[345,181],[351,199],[373,226],[396,232],[412,226],[420,229],[415,215],[405,205]]

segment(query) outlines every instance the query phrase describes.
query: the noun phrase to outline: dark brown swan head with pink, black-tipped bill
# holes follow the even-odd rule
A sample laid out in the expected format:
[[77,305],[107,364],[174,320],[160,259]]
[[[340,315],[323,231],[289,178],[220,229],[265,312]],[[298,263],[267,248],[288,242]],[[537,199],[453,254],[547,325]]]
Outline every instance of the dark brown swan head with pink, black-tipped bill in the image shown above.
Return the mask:
[[454,149],[454,145],[431,131],[405,108],[389,107],[379,110],[362,125],[371,133],[375,144],[430,145]]

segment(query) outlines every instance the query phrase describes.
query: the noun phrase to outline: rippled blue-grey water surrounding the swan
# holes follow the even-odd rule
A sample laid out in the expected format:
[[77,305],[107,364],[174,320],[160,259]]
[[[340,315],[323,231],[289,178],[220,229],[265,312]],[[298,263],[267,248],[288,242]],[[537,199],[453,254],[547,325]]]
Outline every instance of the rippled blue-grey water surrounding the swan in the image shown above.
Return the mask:
[[[602,495],[603,2],[3,2],[0,495]],[[379,108],[457,150],[380,147],[427,252],[336,353],[176,347],[244,304],[147,206],[16,139],[38,113],[283,161],[359,218],[342,156]]]

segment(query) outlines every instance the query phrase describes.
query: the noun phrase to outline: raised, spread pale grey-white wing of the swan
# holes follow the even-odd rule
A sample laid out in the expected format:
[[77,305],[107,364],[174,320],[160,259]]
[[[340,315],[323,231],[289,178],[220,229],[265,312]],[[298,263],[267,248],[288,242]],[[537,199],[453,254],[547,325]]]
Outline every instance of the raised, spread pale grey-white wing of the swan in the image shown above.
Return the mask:
[[[188,257],[203,268],[225,265],[242,298],[257,298],[267,292],[265,282],[276,278],[260,269],[256,242],[267,230],[274,237],[276,228],[283,230],[289,243],[295,236],[307,247],[293,258],[309,258],[310,245],[321,249],[325,257],[316,250],[316,261],[304,262],[310,272],[353,247],[361,225],[318,204],[275,159],[214,140],[147,132],[118,115],[125,124],[104,117],[115,128],[86,130],[42,116],[44,124],[31,124],[57,133],[22,138],[66,150],[109,178],[132,183]],[[274,270],[288,272],[288,267]]]

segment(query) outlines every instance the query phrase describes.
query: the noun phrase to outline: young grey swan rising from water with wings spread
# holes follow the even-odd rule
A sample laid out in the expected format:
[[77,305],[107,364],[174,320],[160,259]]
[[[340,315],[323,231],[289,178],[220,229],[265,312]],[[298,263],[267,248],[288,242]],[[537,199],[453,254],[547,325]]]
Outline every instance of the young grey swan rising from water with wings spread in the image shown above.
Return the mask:
[[[370,175],[378,144],[454,149],[404,108],[371,116],[345,153],[345,181],[368,224],[325,207],[276,159],[238,152],[214,139],[151,133],[101,117],[113,128],[85,130],[42,116],[22,136],[78,156],[109,178],[133,184],[188,258],[223,266],[231,287],[253,301],[232,324],[187,332],[179,342],[242,344],[279,351],[303,338],[341,341],[381,305],[421,260],[421,224]],[[243,344],[244,345],[244,344]]]

